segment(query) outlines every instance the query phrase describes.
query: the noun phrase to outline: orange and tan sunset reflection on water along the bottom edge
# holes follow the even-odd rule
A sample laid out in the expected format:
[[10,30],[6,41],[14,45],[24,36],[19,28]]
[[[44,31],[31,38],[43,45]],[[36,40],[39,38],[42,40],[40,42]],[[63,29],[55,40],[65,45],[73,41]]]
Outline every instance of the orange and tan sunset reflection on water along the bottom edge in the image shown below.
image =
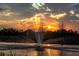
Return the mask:
[[36,51],[35,48],[16,49],[16,50],[1,50],[0,56],[57,56],[61,55],[62,51],[55,49],[44,48],[43,51]]

